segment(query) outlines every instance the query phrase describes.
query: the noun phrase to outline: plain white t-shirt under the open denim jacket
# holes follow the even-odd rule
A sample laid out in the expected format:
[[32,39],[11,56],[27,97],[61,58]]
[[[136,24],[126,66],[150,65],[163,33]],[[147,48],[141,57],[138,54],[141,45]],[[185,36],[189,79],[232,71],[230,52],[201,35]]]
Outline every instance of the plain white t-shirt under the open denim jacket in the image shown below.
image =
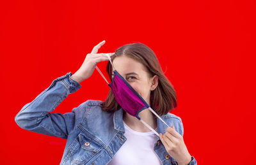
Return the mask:
[[116,152],[108,165],[157,165],[162,164],[154,151],[156,134],[153,131],[140,133],[132,130],[124,122],[127,138],[124,145]]

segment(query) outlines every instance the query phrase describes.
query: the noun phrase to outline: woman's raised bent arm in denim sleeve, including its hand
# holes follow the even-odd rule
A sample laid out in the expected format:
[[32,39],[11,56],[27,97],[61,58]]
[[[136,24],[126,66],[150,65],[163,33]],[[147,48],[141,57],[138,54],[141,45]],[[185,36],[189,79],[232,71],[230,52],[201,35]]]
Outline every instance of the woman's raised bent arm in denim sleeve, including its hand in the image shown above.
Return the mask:
[[[15,116],[15,122],[23,129],[35,133],[47,134],[67,139],[68,134],[81,122],[86,102],[70,113],[50,113],[68,94],[76,92],[83,80],[89,78],[98,62],[108,61],[105,54],[97,54],[105,40],[93,47],[92,53],[87,54],[82,66],[74,75],[71,72],[54,80],[50,87],[39,94],[31,103],[23,106]],[[114,53],[109,54],[114,55]],[[72,78],[71,78],[72,76]]]

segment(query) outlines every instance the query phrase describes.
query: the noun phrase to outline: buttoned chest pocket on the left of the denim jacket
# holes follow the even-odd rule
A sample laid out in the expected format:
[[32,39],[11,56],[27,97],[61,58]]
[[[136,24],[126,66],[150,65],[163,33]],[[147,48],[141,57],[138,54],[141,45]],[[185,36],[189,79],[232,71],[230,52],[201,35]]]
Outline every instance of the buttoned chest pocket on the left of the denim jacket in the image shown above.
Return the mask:
[[70,155],[72,164],[86,164],[101,149],[100,145],[86,133],[78,134],[76,140],[68,147],[67,152]]

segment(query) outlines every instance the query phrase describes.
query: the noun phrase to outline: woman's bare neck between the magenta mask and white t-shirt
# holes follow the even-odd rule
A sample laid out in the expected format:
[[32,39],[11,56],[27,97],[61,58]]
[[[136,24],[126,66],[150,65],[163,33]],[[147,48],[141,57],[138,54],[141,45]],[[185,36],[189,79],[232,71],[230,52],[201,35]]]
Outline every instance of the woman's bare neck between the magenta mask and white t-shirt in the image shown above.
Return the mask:
[[[150,110],[148,110],[148,108],[145,110],[142,110],[139,113],[139,117],[143,121],[145,121],[150,127],[152,127],[152,129],[156,129],[157,127],[156,117]],[[131,127],[131,129],[133,129],[134,131],[138,131],[141,133],[147,133],[151,131],[140,120],[138,120],[138,118],[133,117],[132,115],[130,115],[129,113],[126,113],[125,111],[124,111],[123,119],[125,124]]]

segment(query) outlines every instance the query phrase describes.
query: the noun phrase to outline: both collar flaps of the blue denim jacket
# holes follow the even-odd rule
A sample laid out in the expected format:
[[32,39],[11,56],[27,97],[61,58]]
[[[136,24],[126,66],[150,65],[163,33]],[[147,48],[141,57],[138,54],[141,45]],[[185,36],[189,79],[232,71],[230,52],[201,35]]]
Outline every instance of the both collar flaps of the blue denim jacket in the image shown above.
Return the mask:
[[[120,108],[119,110],[115,111],[113,122],[114,122],[114,128],[116,129],[116,131],[121,131],[125,133],[123,112],[124,112],[123,108]],[[165,122],[165,118],[168,118],[168,115],[166,114],[160,117]],[[164,134],[166,132],[166,128],[167,126],[157,117],[157,133]],[[159,136],[157,136],[157,140],[160,140]]]

